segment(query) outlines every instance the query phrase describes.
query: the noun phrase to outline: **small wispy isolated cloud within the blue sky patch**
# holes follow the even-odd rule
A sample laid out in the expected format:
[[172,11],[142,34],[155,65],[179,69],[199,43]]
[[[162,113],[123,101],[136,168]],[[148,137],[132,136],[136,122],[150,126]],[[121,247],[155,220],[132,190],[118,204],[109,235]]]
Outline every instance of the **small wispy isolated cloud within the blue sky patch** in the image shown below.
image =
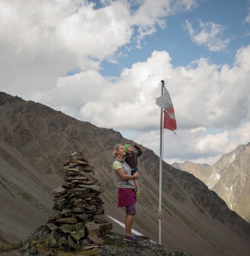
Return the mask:
[[219,52],[227,48],[229,38],[223,38],[226,27],[215,22],[199,21],[199,28],[194,29],[192,24],[186,20],[184,28],[187,29],[191,40],[197,45],[205,46],[209,51]]

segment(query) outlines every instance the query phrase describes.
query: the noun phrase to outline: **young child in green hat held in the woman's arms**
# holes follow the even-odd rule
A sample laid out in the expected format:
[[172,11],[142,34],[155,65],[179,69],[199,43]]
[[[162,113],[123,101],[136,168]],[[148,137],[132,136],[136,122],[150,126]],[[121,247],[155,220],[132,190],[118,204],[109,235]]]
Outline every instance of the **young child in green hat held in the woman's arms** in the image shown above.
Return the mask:
[[[137,152],[134,152],[133,147],[137,150]],[[134,173],[138,172],[137,169],[137,158],[142,155],[142,150],[139,146],[137,146],[136,144],[132,144],[132,146],[130,144],[126,144],[124,145],[124,149],[126,150],[126,163],[130,166],[131,168],[131,175],[134,175]],[[136,196],[141,195],[141,189],[139,188],[139,184],[137,179],[134,179],[134,185],[136,186]]]

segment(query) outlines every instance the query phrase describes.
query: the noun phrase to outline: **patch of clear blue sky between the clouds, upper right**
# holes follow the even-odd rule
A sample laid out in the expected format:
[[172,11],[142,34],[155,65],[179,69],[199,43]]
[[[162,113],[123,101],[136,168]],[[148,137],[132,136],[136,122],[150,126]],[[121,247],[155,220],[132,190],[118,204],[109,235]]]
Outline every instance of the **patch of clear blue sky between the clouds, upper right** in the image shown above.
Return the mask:
[[[96,1],[93,1],[96,2]],[[167,51],[172,57],[172,65],[186,66],[200,57],[208,58],[211,62],[223,65],[232,65],[236,51],[241,46],[249,45],[249,24],[244,20],[248,16],[248,1],[209,1],[204,0],[192,11],[181,12],[165,19],[166,28],[157,27],[157,32],[142,40],[142,47],[137,48],[136,43],[130,51],[122,47],[126,56],[114,64],[108,61],[102,63],[104,76],[119,76],[124,67],[131,67],[133,63],[145,61],[153,50]],[[100,8],[101,5],[98,4]],[[221,38],[229,38],[230,42],[223,51],[209,51],[206,47],[197,46],[191,41],[184,28],[186,20],[199,29],[199,21],[214,22],[224,26]],[[135,28],[136,30],[136,28]]]

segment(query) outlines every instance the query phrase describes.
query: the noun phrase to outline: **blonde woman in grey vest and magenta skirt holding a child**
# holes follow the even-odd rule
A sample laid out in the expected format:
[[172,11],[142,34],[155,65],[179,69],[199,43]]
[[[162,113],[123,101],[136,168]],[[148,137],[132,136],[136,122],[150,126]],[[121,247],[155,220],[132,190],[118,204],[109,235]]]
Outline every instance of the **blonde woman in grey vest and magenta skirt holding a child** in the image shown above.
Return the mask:
[[124,161],[124,157],[126,156],[126,150],[124,149],[124,145],[118,144],[114,146],[114,163],[113,170],[116,173],[116,178],[118,181],[118,207],[126,206],[126,214],[125,214],[125,230],[126,235],[125,239],[131,242],[138,242],[139,238],[134,237],[131,233],[134,215],[136,215],[136,198],[134,196],[136,186],[134,185],[134,179],[137,179],[140,174],[135,173],[131,175],[131,168]]

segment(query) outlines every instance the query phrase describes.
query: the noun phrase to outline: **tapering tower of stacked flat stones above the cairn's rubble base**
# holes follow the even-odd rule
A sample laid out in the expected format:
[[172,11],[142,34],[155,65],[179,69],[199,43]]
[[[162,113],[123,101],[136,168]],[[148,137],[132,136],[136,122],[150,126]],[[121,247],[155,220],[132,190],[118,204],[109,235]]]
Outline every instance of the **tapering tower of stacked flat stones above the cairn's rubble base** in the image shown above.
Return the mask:
[[66,174],[62,186],[53,191],[51,223],[62,232],[71,234],[76,241],[85,233],[109,233],[112,224],[104,215],[104,202],[100,197],[103,189],[93,176],[94,166],[82,152],[72,152],[64,165]]

